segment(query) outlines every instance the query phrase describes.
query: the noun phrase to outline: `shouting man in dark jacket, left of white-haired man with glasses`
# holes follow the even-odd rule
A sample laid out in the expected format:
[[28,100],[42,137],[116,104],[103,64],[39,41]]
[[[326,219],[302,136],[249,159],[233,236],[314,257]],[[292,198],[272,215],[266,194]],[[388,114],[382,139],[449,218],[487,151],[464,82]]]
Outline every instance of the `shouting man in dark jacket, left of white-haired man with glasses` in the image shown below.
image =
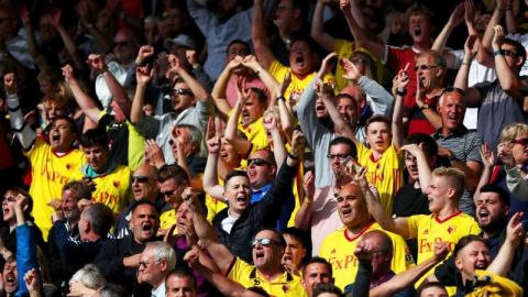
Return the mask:
[[150,296],[150,286],[138,284],[136,275],[141,253],[147,242],[156,239],[160,227],[160,217],[154,204],[148,200],[134,202],[130,227],[132,234],[106,241],[94,263],[107,280],[123,285],[129,294]]

